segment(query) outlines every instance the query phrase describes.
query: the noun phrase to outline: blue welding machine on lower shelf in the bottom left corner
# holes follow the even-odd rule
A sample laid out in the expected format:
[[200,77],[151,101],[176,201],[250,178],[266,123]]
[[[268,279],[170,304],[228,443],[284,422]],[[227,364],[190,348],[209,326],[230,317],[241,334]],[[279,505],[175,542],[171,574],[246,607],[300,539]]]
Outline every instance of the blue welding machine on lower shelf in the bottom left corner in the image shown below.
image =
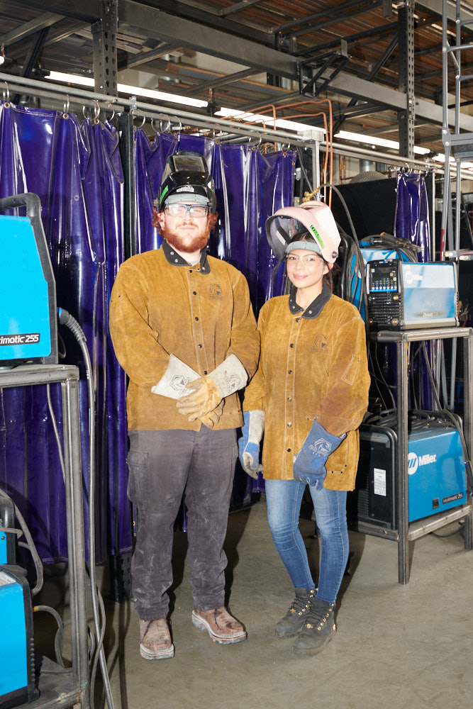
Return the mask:
[[35,698],[33,613],[26,571],[0,566],[0,709]]

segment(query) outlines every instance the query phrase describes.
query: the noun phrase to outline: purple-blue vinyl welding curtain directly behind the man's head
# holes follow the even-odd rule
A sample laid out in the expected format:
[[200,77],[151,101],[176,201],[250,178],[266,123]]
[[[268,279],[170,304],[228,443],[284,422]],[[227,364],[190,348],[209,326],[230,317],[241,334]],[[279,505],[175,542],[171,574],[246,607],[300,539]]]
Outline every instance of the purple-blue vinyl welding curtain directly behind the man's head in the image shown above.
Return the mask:
[[[284,273],[272,255],[266,238],[265,221],[292,203],[296,153],[263,155],[250,145],[221,145],[193,135],[157,133],[150,141],[138,129],[135,140],[135,194],[137,201],[137,250],[160,246],[159,232],[151,225],[152,201],[157,195],[166,159],[177,150],[194,150],[204,155],[215,182],[218,223],[208,245],[212,256],[238,268],[248,281],[255,315],[267,298],[284,291]],[[260,474],[248,478],[239,465],[231,506],[250,500],[252,492],[264,490]]]

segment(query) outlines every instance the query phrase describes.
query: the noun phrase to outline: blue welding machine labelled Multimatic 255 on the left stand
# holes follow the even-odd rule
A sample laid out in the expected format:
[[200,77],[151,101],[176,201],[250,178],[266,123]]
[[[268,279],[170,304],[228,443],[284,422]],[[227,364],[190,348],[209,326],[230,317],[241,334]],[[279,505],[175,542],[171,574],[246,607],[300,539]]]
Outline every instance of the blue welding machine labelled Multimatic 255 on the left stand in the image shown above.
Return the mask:
[[0,211],[26,206],[26,216],[0,216],[0,366],[57,364],[56,289],[40,199],[0,199]]

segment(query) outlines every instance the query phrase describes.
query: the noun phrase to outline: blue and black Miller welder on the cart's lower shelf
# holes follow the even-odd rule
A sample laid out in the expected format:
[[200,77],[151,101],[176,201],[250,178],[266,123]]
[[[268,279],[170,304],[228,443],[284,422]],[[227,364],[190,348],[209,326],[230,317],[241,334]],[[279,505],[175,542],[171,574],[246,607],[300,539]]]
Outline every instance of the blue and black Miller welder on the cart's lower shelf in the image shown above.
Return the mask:
[[[460,421],[458,421],[460,426]],[[347,495],[347,518],[396,530],[396,414],[360,426],[355,491]],[[408,521],[462,505],[467,489],[458,428],[441,411],[411,412],[408,420]]]

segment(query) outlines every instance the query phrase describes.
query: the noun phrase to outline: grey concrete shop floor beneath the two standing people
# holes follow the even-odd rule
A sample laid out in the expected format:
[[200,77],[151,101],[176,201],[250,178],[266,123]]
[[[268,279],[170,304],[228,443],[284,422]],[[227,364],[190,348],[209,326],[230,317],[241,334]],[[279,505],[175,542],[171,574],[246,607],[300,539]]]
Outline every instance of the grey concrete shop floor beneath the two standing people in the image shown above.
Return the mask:
[[[316,571],[313,529],[301,520]],[[338,632],[311,658],[296,657],[294,641],[274,635],[293,589],[269,535],[264,498],[230,514],[228,525],[228,603],[247,627],[245,642],[218,645],[191,625],[186,535],[176,532],[175,541],[173,659],[142,659],[133,604],[106,601],[116,709],[472,706],[473,554],[460,534],[411,544],[411,578],[401,586],[396,542],[350,532],[355,554],[338,598]]]

